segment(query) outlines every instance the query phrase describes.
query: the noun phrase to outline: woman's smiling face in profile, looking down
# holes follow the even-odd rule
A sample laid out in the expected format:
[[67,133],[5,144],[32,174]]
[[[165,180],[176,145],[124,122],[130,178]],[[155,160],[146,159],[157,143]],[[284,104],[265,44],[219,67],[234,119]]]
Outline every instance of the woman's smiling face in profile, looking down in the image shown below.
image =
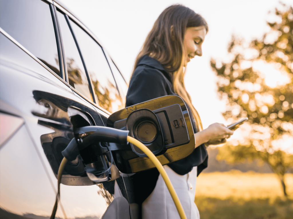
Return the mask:
[[186,63],[196,55],[202,56],[202,42],[205,39],[207,30],[204,26],[189,27],[186,29],[183,46],[185,51]]

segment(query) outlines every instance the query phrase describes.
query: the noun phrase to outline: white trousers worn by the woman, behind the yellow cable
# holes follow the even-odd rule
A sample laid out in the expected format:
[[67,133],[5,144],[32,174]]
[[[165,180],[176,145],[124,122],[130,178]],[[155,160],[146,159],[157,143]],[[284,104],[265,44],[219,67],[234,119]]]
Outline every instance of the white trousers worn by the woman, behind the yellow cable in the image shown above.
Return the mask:
[[[185,175],[179,175],[167,165],[164,166],[188,219],[200,219],[194,203],[197,167]],[[154,191],[142,203],[142,219],[180,219],[171,194],[161,174]]]

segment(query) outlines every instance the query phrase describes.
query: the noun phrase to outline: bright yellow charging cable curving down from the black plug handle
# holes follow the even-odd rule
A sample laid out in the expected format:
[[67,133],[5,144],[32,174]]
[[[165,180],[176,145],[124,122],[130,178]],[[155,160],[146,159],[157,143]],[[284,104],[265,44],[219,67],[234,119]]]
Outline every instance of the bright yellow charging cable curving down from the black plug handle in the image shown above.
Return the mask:
[[159,162],[158,158],[156,158],[156,156],[144,145],[142,144],[142,142],[136,140],[135,138],[133,137],[130,137],[130,136],[127,136],[127,141],[129,141],[130,143],[134,144],[135,146],[137,146],[140,150],[142,150],[148,157],[149,159],[151,159],[151,161],[154,163],[154,165],[156,166],[156,168],[158,169],[158,171],[160,172],[160,174],[162,175],[166,185],[167,185],[167,188],[173,198],[173,201],[176,205],[176,208],[178,210],[178,213],[180,215],[180,218],[181,219],[187,219],[186,218],[186,215],[185,215],[185,212],[183,210],[183,207],[181,205],[181,202],[175,192],[175,189],[164,169],[164,167],[162,166],[162,164]]

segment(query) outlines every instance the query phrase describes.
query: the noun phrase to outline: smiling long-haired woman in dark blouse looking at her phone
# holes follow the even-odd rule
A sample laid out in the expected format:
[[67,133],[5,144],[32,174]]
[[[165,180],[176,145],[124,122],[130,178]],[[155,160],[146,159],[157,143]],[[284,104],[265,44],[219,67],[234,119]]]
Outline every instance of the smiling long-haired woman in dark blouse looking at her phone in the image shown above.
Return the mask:
[[[172,5],[156,20],[139,52],[126,96],[126,107],[166,95],[178,95],[186,103],[195,133],[194,152],[164,168],[187,218],[199,218],[194,203],[196,177],[207,167],[206,145],[221,144],[233,134],[223,124],[202,129],[200,117],[184,87],[186,64],[201,56],[207,34],[206,21],[193,10]],[[180,218],[171,195],[156,169],[132,176],[136,203],[142,218]]]

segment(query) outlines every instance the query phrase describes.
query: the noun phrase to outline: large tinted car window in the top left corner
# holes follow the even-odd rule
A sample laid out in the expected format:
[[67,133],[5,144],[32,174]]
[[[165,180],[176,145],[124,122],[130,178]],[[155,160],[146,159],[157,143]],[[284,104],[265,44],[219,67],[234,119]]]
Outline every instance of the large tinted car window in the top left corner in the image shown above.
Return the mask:
[[0,26],[60,76],[49,4],[40,0],[1,0]]

